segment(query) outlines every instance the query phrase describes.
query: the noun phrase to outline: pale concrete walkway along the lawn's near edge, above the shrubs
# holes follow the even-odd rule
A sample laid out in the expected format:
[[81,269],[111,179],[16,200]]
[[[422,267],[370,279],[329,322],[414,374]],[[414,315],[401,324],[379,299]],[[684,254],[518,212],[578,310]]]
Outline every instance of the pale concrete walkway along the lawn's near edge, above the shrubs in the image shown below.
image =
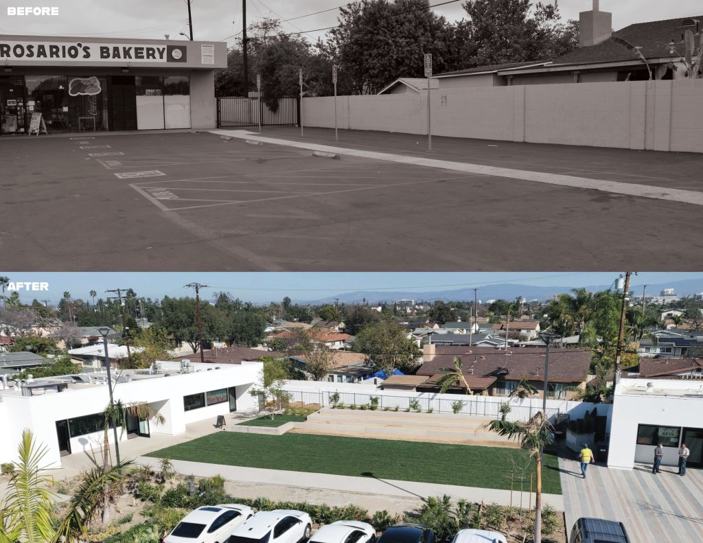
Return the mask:
[[[158,460],[148,456],[137,459],[143,464],[156,465]],[[222,475],[226,480],[236,483],[254,483],[257,485],[283,485],[285,487],[309,488],[317,490],[332,490],[337,492],[363,492],[387,497],[401,497],[423,500],[429,496],[448,494],[453,500],[468,499],[471,502],[496,502],[504,506],[510,505],[510,490],[495,490],[489,488],[460,487],[455,485],[435,485],[432,483],[416,483],[414,481],[399,481],[378,479],[373,477],[349,477],[347,475],[328,475],[326,473],[301,473],[262,468],[243,468],[225,466],[222,464],[205,464],[204,462],[188,462],[173,460],[179,473],[212,477]],[[534,499],[534,495],[532,496]],[[564,510],[564,500],[557,494],[542,494],[545,504],[550,504],[558,511]],[[522,492],[522,506],[527,508],[529,493]],[[359,502],[363,505],[364,502]],[[520,506],[520,492],[512,492],[512,505]]]

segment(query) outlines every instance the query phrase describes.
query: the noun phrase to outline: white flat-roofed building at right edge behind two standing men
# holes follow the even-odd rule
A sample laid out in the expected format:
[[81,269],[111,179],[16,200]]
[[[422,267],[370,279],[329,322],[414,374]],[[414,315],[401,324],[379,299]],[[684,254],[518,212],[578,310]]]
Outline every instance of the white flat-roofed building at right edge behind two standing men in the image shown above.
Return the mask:
[[703,468],[703,383],[621,379],[615,388],[608,467],[651,464],[657,442],[662,464],[678,464],[678,448],[690,449],[688,466]]

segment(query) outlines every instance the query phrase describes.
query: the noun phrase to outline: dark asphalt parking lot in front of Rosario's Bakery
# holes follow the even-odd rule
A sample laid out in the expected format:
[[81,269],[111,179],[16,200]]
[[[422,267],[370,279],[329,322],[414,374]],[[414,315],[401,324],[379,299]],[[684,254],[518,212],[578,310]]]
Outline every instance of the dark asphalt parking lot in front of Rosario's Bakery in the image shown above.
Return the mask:
[[685,196],[329,160],[207,132],[0,139],[2,269],[703,269],[703,206],[685,201],[702,196],[702,155],[451,138],[434,138],[430,155],[424,136],[408,134],[344,131],[340,143],[321,129],[263,135]]

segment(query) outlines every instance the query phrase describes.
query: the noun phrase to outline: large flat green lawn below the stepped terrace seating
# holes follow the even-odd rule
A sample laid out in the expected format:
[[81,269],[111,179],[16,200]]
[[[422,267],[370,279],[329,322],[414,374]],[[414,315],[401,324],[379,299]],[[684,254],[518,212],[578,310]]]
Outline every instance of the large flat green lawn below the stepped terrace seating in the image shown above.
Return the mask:
[[[510,490],[512,466],[527,463],[523,449],[292,433],[219,432],[147,456],[505,490]],[[557,458],[545,455],[544,461],[543,492],[561,494]],[[529,490],[529,475],[524,490]]]

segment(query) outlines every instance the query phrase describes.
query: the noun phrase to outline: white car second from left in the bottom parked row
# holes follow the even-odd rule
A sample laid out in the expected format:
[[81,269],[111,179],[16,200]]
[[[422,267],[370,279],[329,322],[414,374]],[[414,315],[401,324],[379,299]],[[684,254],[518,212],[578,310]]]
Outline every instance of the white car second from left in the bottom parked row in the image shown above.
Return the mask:
[[311,530],[308,513],[292,509],[259,511],[232,532],[228,543],[307,542]]

